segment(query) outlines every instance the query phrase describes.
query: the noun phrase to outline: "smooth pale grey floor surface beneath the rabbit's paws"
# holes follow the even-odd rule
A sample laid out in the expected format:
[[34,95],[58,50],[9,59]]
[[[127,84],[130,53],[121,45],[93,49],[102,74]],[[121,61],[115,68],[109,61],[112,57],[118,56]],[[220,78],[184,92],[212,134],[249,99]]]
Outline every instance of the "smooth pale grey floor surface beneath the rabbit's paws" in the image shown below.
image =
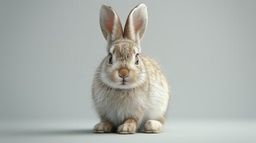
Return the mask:
[[162,133],[92,133],[97,122],[2,122],[0,142],[256,142],[256,120],[172,120]]

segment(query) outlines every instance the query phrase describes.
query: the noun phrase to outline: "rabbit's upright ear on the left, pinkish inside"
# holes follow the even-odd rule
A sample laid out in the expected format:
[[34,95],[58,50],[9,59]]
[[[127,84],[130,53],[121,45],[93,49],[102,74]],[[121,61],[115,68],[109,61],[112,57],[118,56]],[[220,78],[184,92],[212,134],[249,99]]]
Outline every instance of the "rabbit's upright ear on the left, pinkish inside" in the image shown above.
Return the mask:
[[109,44],[123,37],[122,25],[118,14],[107,4],[103,4],[100,9],[100,28]]

